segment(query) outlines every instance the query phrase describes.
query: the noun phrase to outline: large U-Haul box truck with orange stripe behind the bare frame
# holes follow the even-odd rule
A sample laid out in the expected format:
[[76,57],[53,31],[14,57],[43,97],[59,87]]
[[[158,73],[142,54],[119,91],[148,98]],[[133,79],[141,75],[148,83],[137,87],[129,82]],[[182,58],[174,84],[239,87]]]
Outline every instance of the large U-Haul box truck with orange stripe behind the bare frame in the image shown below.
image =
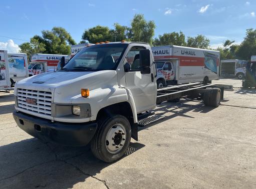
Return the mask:
[[152,47],[157,86],[191,82],[210,83],[219,78],[219,51],[183,46]]

